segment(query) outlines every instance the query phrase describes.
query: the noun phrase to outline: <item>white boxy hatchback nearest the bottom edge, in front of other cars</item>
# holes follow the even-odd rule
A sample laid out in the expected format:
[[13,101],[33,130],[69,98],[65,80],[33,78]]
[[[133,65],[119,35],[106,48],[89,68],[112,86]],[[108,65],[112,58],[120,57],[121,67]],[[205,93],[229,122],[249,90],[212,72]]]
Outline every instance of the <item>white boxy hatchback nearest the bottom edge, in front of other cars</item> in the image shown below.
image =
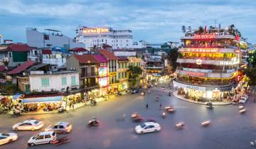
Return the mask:
[[38,144],[54,143],[55,140],[57,140],[57,136],[54,131],[43,131],[35,136],[32,136],[28,140],[28,145],[33,146]]

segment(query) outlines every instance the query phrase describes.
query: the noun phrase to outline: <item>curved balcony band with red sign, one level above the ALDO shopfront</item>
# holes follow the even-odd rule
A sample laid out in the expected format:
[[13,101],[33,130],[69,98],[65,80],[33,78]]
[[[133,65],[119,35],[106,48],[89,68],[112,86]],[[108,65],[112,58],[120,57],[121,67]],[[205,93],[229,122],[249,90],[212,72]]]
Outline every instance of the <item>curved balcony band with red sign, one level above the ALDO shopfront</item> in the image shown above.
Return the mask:
[[184,71],[184,70],[176,70],[176,74],[179,75],[187,75],[190,77],[206,77],[206,78],[232,78],[234,72],[191,72],[191,71]]

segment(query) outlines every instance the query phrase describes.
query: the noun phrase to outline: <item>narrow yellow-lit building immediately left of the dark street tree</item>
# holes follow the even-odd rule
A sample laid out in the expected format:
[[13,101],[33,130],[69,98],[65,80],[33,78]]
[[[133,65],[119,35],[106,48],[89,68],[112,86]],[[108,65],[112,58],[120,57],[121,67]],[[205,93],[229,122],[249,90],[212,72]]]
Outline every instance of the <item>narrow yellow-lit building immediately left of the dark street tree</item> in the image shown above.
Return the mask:
[[118,84],[118,91],[122,92],[128,89],[128,65],[129,60],[127,57],[118,57],[117,60],[117,80],[119,81]]

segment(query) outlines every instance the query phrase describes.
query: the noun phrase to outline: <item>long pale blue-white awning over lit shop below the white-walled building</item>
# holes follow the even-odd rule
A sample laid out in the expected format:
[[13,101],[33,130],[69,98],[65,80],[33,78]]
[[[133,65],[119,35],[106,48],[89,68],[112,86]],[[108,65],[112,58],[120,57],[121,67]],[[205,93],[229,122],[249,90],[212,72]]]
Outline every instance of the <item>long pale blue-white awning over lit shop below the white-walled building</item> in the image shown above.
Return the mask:
[[38,103],[38,102],[56,102],[61,101],[63,96],[47,96],[47,97],[38,97],[38,98],[28,98],[23,99],[23,103]]

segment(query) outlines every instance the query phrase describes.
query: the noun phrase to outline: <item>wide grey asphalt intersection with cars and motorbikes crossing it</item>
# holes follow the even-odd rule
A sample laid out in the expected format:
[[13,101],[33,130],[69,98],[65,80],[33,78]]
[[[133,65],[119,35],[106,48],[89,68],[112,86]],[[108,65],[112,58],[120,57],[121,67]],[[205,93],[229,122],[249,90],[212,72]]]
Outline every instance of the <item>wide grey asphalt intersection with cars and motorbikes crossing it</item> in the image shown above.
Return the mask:
[[[159,102],[155,101],[156,94],[160,94]],[[146,102],[149,103],[149,109],[145,108]],[[163,106],[173,105],[176,113],[168,114],[165,119],[161,118],[160,103]],[[245,107],[247,109],[245,114],[240,114],[238,106],[233,105],[215,106],[211,110],[203,105],[191,104],[167,96],[166,92],[154,91],[146,96],[139,94],[119,96],[117,99],[102,101],[97,106],[85,106],[66,114],[39,114],[18,118],[11,118],[8,114],[0,115],[0,132],[12,132],[11,126],[14,123],[32,117],[44,121],[43,128],[58,121],[69,121],[73,124],[72,133],[66,134],[70,137],[70,142],[63,145],[27,147],[28,139],[40,131],[18,131],[16,133],[19,138],[16,142],[2,145],[0,148],[252,148],[250,141],[256,138],[256,104],[249,100]],[[144,135],[134,133],[134,127],[139,123],[133,123],[130,116],[135,111],[145,118],[156,118],[161,125],[161,131]],[[125,121],[117,121],[118,118],[122,118],[122,114],[126,114]],[[98,128],[86,126],[92,116],[99,118]],[[208,119],[212,121],[210,126],[202,127],[201,122]],[[182,130],[175,128],[178,121],[183,121],[186,125]]]

